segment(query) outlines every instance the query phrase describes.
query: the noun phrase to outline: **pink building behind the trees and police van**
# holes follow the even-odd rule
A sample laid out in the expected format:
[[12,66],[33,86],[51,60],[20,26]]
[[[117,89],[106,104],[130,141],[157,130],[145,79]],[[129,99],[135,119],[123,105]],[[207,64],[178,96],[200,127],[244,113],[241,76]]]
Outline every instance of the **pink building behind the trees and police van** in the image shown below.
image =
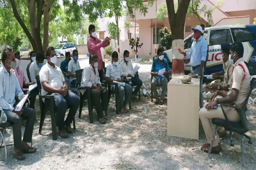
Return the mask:
[[[152,7],[149,7],[148,13],[143,16],[139,11],[136,11],[136,23],[139,24],[139,38],[140,43],[143,42],[142,48],[138,50],[139,57],[149,57],[155,54],[155,44],[158,47],[160,42],[159,30],[163,27],[170,29],[168,16],[165,20],[156,20],[156,5],[157,8],[165,3],[165,0],[154,1]],[[213,8],[217,4],[218,0],[202,0],[201,5],[206,5],[208,8]],[[220,25],[235,25],[235,24],[253,24],[256,17],[256,0],[223,0],[224,4],[220,8],[213,10],[213,26]],[[147,4],[147,0],[144,1]],[[207,17],[203,14],[201,16],[201,22],[207,26]],[[134,22],[129,16],[126,16],[127,21]],[[191,28],[200,24],[198,18],[187,15],[184,29],[184,38],[192,33]],[[157,29],[157,35],[155,40],[155,29]]]

